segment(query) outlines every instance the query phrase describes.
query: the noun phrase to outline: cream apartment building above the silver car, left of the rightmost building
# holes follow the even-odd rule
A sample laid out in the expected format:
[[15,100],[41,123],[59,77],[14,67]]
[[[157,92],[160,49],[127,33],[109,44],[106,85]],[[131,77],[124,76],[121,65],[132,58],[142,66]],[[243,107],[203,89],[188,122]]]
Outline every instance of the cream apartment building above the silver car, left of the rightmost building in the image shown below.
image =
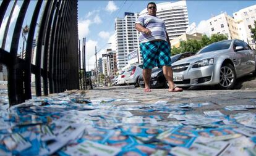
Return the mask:
[[239,38],[236,21],[226,12],[208,19],[207,24],[210,35],[224,34],[228,36],[228,39]]

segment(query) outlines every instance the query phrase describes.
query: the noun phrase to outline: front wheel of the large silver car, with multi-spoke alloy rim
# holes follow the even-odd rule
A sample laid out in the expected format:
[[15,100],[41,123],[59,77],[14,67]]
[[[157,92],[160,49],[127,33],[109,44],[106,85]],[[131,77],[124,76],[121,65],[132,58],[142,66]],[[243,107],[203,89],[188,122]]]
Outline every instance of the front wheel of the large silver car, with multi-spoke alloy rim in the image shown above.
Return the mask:
[[232,89],[236,83],[236,72],[231,64],[224,64],[220,69],[220,86],[221,89]]

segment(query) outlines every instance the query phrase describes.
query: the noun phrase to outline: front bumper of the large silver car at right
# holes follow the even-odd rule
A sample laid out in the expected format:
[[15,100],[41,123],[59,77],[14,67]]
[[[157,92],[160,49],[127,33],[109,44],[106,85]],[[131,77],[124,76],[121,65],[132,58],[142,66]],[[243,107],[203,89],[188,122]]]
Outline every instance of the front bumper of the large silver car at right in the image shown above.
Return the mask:
[[220,82],[220,65],[208,65],[200,68],[188,68],[184,72],[174,72],[173,76],[183,76],[182,81],[174,81],[176,86],[215,85]]

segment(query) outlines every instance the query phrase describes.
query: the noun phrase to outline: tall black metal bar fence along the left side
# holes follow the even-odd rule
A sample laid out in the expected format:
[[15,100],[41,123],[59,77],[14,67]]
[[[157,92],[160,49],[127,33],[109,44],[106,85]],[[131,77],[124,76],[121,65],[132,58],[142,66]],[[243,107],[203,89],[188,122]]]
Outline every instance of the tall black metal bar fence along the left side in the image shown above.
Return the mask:
[[[4,0],[0,6],[0,25],[8,7],[12,11],[16,2]],[[34,1],[35,2],[35,1]],[[79,49],[77,1],[36,1],[33,12],[28,11],[30,1],[22,1],[19,15],[15,21],[10,51],[4,44],[0,48],[0,64],[7,67],[8,96],[10,105],[19,104],[32,98],[31,78],[35,74],[36,96],[79,89]],[[12,6],[9,6],[12,5]],[[11,20],[12,11],[9,15]],[[41,11],[41,14],[40,14]],[[25,15],[31,14],[31,22],[24,48],[25,57],[17,56],[20,34]],[[40,19],[40,23],[36,23]],[[5,32],[9,29],[7,22]],[[36,25],[38,31],[36,32]],[[36,46],[33,49],[35,33]],[[1,36],[2,43],[6,35]],[[22,51],[23,52],[23,51]],[[35,65],[32,64],[32,52],[35,55]],[[43,86],[41,86],[43,84]]]

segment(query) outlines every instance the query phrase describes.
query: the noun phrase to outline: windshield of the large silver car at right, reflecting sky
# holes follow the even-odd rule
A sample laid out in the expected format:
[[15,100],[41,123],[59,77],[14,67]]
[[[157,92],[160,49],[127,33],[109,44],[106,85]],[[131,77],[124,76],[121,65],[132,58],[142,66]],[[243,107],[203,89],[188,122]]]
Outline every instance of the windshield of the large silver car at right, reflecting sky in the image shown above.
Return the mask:
[[201,51],[198,52],[198,54],[204,53],[204,52],[211,52],[211,51],[219,51],[223,49],[228,49],[230,47],[232,40],[228,41],[220,41],[218,43],[210,44],[206,47],[203,47]]

